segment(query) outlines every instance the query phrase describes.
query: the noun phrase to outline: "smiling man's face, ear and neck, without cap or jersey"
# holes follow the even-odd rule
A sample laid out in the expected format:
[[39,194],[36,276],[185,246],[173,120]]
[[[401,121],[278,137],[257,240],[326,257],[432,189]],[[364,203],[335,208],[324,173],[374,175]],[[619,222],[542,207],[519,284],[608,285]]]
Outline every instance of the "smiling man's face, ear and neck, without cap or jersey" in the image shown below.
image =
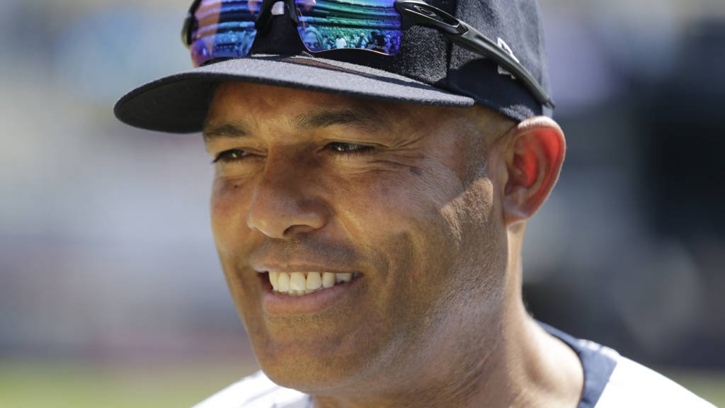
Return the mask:
[[220,259],[269,378],[321,406],[576,406],[576,354],[520,296],[521,221],[563,158],[552,121],[224,83],[204,138]]

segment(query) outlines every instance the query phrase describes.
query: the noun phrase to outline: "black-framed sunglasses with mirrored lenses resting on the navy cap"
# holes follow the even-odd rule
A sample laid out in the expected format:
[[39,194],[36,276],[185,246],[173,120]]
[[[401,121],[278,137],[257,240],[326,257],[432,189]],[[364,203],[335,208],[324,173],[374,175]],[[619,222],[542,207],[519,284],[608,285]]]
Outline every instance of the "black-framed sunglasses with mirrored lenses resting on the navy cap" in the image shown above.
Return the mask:
[[246,57],[257,30],[265,30],[273,15],[284,14],[283,4],[310,52],[360,49],[395,55],[402,31],[423,25],[496,62],[521,81],[539,103],[554,108],[549,95],[513,53],[471,25],[420,0],[194,0],[181,31],[194,67],[216,58]]

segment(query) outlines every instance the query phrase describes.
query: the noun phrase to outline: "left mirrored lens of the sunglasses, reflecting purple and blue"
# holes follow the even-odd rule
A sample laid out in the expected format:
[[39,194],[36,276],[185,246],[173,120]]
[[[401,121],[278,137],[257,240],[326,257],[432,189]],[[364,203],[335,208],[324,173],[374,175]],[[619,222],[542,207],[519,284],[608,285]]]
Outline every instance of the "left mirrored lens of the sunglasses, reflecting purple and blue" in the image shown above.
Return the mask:
[[202,0],[191,27],[191,60],[195,67],[212,58],[244,57],[252,48],[254,20],[261,0]]

